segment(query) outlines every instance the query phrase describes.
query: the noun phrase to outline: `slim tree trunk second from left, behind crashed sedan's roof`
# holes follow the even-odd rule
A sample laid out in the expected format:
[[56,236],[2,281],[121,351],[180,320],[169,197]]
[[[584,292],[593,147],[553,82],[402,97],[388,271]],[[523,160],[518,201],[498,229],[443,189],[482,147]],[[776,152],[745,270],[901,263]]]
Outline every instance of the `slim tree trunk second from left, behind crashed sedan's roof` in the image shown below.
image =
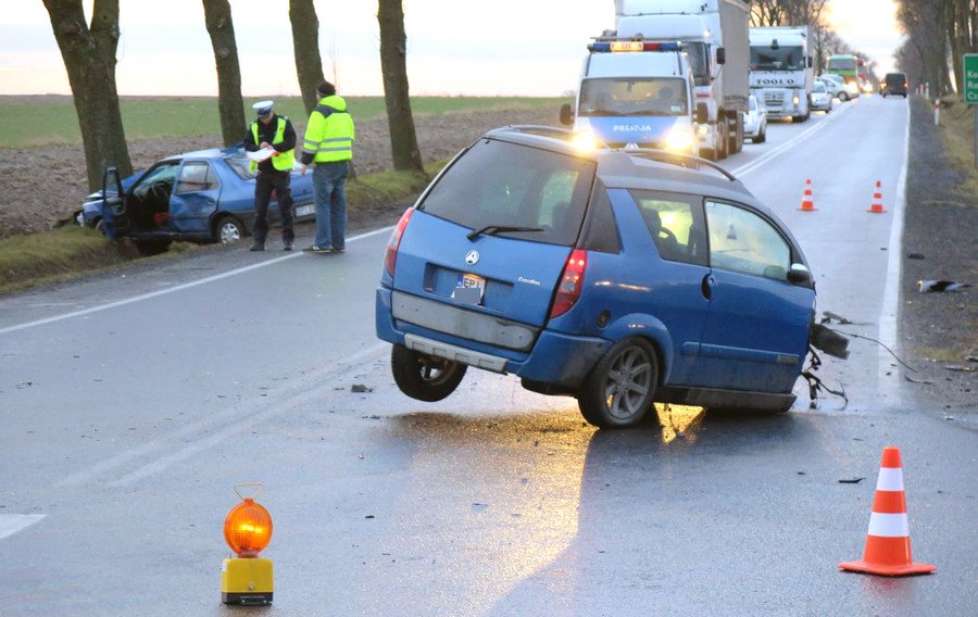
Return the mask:
[[241,141],[244,124],[244,100],[241,98],[241,68],[238,43],[228,0],[203,0],[204,18],[214,62],[217,66],[217,109],[221,113],[221,137],[225,146]]

